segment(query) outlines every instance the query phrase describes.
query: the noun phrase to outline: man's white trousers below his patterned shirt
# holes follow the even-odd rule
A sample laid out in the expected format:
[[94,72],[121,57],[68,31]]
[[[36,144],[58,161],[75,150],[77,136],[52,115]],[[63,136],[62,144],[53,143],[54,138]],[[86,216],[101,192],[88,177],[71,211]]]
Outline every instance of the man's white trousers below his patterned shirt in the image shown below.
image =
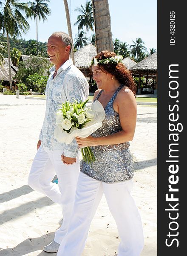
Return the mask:
[[[68,231],[80,169],[78,157],[76,163],[66,165],[61,161],[62,153],[61,150],[51,151],[40,146],[28,176],[28,185],[32,189],[41,192],[62,206],[63,222],[55,232],[54,238],[54,241],[59,244]],[[55,173],[58,177],[58,184],[51,182]]]

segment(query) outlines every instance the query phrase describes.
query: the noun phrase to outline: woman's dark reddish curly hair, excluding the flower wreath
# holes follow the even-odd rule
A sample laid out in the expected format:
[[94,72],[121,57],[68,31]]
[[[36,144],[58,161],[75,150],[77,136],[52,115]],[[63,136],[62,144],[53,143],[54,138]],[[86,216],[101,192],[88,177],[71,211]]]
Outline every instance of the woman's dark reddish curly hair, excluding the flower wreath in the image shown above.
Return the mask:
[[[102,51],[99,52],[94,58],[99,60],[104,60],[106,58],[115,57],[115,52]],[[93,60],[94,60],[93,58]],[[108,64],[98,64],[98,67],[103,72],[108,72],[111,75],[115,76],[115,78],[121,83],[127,86],[134,94],[136,94],[136,85],[134,83],[133,77],[129,70],[125,67],[122,62],[111,63]]]

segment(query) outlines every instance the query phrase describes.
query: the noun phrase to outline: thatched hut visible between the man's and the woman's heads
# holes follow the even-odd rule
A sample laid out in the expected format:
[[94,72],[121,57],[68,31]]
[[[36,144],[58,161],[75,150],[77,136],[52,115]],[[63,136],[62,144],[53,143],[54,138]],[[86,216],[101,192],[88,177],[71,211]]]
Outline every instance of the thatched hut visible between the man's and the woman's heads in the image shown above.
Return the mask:
[[86,76],[90,76],[90,63],[96,56],[96,47],[93,44],[88,44],[74,53],[75,66]]

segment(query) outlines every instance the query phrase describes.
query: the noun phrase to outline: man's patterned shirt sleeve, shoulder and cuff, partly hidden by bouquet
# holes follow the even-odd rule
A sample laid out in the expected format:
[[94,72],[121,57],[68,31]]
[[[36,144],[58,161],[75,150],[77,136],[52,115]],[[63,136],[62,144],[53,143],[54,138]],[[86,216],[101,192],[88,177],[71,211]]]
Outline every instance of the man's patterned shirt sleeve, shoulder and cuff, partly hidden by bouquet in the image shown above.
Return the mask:
[[[74,102],[76,99],[85,101],[88,98],[89,84],[85,78],[73,77],[67,83],[66,98],[69,102]],[[74,139],[72,143],[65,145],[64,156],[65,157],[77,157],[78,144]]]

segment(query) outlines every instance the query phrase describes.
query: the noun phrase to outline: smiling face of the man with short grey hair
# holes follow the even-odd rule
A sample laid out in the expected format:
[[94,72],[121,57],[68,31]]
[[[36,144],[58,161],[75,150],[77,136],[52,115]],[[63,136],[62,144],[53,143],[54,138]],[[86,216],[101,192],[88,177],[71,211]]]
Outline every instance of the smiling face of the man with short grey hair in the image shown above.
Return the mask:
[[50,61],[55,66],[61,66],[67,58],[69,58],[69,46],[62,43],[62,40],[57,36],[50,36],[47,43],[47,53]]

